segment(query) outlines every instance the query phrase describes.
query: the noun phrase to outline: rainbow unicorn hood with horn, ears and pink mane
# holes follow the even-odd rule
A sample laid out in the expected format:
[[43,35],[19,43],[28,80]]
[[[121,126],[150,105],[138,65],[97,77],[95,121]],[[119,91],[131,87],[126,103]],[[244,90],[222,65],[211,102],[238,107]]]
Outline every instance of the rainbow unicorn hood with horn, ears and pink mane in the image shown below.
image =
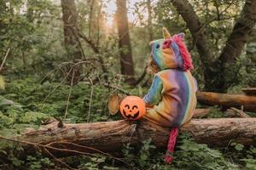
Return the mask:
[[192,59],[179,33],[171,37],[166,28],[163,28],[163,39],[149,42],[152,47],[151,54],[160,70],[180,69],[187,71],[193,68]]

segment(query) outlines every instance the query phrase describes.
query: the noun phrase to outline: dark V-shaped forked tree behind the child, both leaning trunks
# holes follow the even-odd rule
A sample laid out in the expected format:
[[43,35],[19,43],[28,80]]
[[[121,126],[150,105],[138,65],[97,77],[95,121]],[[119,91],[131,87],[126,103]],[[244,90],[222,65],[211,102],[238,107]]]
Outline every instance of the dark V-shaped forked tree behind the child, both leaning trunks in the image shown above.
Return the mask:
[[236,75],[234,73],[232,75],[229,65],[233,64],[240,56],[247,42],[247,37],[253,30],[253,26],[255,26],[256,0],[247,0],[244,4],[240,18],[236,21],[230,37],[217,59],[214,58],[209,46],[205,26],[199,20],[198,15],[195,13],[189,1],[171,0],[170,2],[177,8],[178,14],[181,14],[183,20],[187,23],[196,48],[201,56],[201,62],[204,67],[205,88],[210,91],[225,92],[230,82],[234,82],[236,79]]

